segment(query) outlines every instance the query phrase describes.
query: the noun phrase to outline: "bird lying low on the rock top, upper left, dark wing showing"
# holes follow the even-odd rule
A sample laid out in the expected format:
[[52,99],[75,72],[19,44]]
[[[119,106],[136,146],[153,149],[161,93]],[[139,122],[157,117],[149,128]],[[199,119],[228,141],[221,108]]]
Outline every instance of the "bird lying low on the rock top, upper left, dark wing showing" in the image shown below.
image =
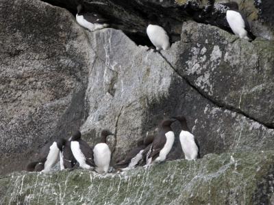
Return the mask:
[[102,18],[100,14],[84,12],[84,7],[81,4],[77,6],[76,20],[79,25],[82,25],[82,27],[85,27],[90,31],[108,27],[108,24],[106,24],[108,21],[107,19]]

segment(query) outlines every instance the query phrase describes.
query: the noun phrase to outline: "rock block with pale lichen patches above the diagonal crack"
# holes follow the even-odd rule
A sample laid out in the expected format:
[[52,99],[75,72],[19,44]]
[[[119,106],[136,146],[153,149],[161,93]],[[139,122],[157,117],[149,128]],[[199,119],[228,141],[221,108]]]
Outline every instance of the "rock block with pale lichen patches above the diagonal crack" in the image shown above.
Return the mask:
[[163,52],[173,68],[216,104],[273,128],[274,42],[194,22],[182,28],[182,40]]

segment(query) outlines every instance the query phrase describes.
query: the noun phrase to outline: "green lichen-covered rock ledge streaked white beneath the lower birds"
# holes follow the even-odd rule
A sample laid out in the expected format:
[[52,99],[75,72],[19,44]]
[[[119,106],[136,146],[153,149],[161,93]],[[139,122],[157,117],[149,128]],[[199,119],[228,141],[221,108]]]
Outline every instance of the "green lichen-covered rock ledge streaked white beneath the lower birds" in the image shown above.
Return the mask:
[[208,154],[101,176],[77,169],[0,178],[1,204],[260,204],[273,195],[274,152]]

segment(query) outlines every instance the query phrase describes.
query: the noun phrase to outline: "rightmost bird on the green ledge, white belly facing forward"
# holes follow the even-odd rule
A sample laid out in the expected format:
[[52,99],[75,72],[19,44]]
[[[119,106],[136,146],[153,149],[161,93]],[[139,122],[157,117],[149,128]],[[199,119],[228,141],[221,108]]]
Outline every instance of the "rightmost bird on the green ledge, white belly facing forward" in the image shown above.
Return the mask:
[[185,159],[199,159],[199,143],[197,139],[190,133],[190,129],[188,128],[188,124],[186,123],[186,118],[183,115],[177,115],[173,117],[178,120],[182,126],[182,131],[179,133],[179,140],[181,142],[182,150],[184,152]]

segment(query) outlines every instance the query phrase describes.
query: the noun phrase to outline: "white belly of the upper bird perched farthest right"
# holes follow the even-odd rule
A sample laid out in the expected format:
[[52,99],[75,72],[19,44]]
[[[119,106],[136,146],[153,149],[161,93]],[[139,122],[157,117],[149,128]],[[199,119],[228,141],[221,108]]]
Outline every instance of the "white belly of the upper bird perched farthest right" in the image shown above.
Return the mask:
[[247,36],[247,31],[245,30],[245,20],[242,19],[240,13],[228,10],[226,13],[226,18],[229,27],[236,36],[240,36],[240,38]]

